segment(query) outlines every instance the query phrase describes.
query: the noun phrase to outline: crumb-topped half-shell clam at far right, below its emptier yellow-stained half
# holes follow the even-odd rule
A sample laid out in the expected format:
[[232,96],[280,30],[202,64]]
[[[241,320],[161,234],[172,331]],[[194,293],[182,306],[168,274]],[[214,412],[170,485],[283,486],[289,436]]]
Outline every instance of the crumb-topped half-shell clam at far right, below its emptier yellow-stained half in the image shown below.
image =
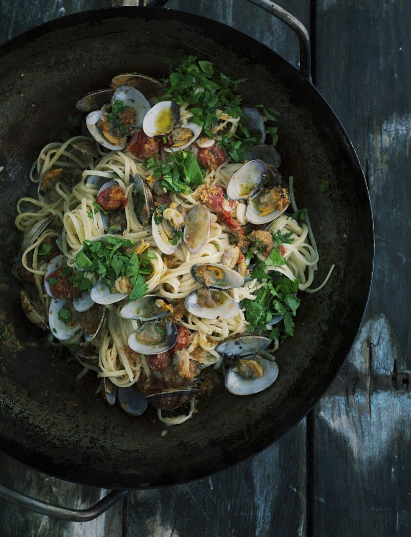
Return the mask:
[[280,186],[264,188],[248,200],[246,218],[253,224],[276,220],[290,205],[290,194]]

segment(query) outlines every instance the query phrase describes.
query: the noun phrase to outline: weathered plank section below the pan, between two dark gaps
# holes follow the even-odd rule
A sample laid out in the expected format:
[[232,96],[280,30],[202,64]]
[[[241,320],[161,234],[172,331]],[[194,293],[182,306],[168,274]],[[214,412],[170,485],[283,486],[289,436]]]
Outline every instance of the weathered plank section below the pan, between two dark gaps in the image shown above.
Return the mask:
[[127,535],[306,535],[306,425],[253,459],[205,480],[133,492]]

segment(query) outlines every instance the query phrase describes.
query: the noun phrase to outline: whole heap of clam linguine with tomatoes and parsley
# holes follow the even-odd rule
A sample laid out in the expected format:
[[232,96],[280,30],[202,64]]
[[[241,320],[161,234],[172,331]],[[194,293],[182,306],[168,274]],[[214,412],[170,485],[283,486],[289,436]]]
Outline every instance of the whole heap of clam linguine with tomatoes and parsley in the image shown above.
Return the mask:
[[221,382],[269,388],[299,291],[333,270],[312,288],[319,256],[279,171],[277,112],[243,104],[243,81],[193,56],[162,82],[114,77],[77,102],[82,135],[41,150],[37,197],[17,205],[27,317],[97,373],[107,403],[135,416],[150,403],[168,425]]

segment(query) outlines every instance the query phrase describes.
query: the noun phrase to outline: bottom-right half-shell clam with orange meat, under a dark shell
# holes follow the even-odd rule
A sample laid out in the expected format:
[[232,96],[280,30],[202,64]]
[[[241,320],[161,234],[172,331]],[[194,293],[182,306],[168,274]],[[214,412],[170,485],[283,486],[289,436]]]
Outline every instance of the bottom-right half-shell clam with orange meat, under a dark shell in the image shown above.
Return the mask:
[[225,385],[234,395],[251,395],[269,388],[277,376],[276,362],[254,354],[241,358],[227,369]]

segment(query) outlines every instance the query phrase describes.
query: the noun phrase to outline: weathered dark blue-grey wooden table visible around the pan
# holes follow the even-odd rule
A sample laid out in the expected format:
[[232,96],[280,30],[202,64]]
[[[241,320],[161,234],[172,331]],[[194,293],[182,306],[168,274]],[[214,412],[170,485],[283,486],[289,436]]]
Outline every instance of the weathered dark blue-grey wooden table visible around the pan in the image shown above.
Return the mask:
[[[410,534],[411,2],[279,2],[311,32],[314,83],[347,128],[370,188],[376,270],[349,359],[309,416],[254,459],[196,483],[133,492],[83,524],[0,500],[2,537]],[[1,0],[0,42],[64,14],[137,3]],[[298,62],[291,30],[243,0],[171,0],[169,6],[224,21]],[[5,455],[0,474],[2,484],[61,505],[85,507],[104,494]]]

